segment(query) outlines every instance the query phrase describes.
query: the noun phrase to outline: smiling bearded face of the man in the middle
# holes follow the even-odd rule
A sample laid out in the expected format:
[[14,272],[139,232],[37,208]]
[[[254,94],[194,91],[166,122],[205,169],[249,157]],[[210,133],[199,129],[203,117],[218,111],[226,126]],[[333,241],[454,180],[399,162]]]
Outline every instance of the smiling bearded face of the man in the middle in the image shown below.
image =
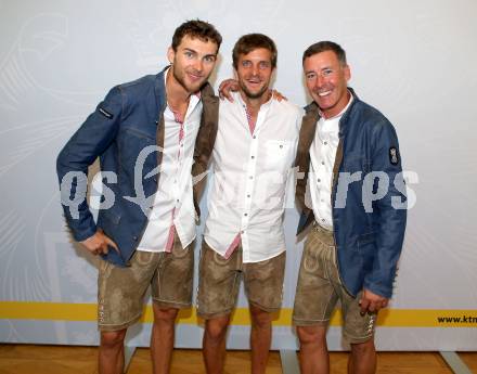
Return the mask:
[[249,99],[262,98],[268,92],[273,74],[272,53],[266,48],[257,48],[241,54],[236,65],[241,91]]

